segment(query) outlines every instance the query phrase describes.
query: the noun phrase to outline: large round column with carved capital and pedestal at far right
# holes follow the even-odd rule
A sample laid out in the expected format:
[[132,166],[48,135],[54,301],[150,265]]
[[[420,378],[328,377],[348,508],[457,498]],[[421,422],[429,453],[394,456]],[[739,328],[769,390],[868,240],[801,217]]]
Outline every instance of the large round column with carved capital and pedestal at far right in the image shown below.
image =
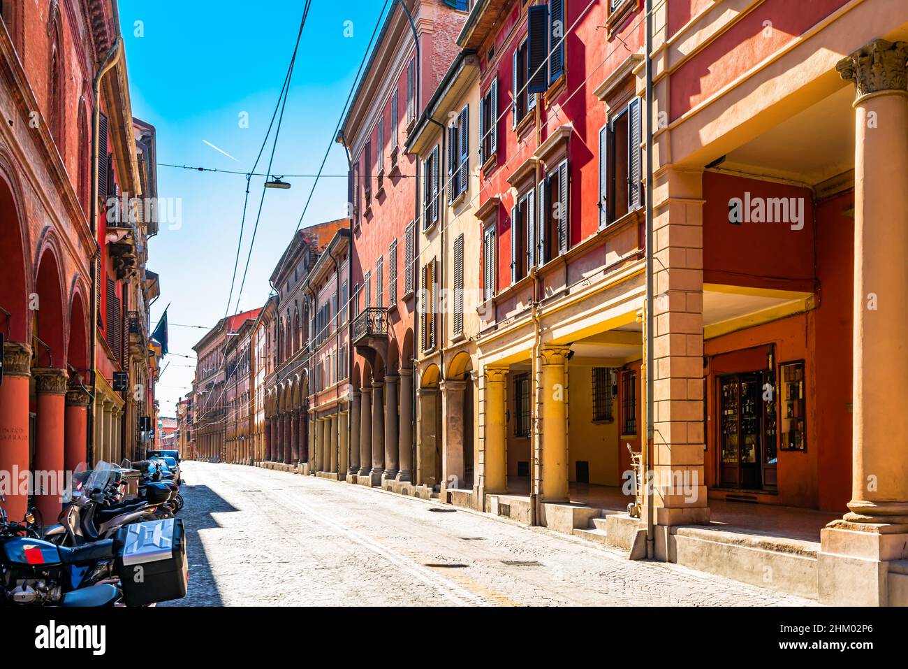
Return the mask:
[[908,604],[889,563],[908,558],[908,43],[839,61],[854,82],[852,499],[820,533],[824,604]]

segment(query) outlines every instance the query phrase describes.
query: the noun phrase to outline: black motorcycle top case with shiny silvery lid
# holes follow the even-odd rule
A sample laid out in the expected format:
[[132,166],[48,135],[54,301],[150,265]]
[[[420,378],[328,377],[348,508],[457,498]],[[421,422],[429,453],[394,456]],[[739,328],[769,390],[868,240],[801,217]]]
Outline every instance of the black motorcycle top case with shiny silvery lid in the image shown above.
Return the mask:
[[117,544],[116,574],[126,604],[143,606],[185,596],[188,565],[183,520],[125,525],[117,532]]

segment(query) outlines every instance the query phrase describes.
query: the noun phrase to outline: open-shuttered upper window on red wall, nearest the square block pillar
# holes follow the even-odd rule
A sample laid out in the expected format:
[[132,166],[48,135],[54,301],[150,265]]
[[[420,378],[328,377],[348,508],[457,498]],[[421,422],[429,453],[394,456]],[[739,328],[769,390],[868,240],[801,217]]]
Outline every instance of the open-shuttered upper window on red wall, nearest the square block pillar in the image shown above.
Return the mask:
[[646,202],[640,100],[635,98],[599,131],[599,226],[614,223]]

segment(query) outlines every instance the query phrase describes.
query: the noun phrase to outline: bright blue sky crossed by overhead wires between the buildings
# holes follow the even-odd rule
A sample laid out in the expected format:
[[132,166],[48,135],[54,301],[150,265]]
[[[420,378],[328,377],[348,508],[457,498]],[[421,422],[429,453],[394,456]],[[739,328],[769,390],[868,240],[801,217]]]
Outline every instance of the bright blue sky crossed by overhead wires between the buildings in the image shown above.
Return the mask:
[[[313,0],[303,29],[290,96],[274,158],[275,175],[315,174],[369,45],[383,0]],[[120,0],[133,115],[157,129],[159,163],[248,172],[271,120],[302,15],[302,0],[250,3]],[[136,25],[141,21],[140,25]],[[352,36],[349,34],[352,22]],[[137,36],[137,32],[143,32]],[[247,112],[249,127],[240,127]],[[236,158],[218,153],[202,140]],[[268,165],[270,145],[257,172]],[[346,175],[347,161],[333,145],[327,175]],[[253,177],[238,274],[242,275],[262,194]],[[313,179],[288,179],[290,190],[265,196],[242,311],[264,303],[268,277],[300,219]],[[161,275],[152,323],[170,303],[171,324],[211,327],[224,315],[240,234],[242,175],[158,168],[161,197],[181,198],[180,229],[161,225],[149,244],[148,267]],[[302,226],[345,215],[345,178],[323,178]],[[239,287],[237,278],[237,287]],[[235,305],[234,293],[232,308]],[[162,415],[192,384],[192,344],[204,330],[170,327],[170,364],[158,384]]]

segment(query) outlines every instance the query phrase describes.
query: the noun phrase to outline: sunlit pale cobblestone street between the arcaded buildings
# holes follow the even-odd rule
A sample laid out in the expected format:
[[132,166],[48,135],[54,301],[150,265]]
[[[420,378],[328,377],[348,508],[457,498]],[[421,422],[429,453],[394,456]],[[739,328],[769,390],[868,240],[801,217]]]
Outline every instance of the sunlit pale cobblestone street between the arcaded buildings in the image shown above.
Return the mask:
[[172,605],[814,604],[312,476],[197,462],[183,476],[189,593]]

